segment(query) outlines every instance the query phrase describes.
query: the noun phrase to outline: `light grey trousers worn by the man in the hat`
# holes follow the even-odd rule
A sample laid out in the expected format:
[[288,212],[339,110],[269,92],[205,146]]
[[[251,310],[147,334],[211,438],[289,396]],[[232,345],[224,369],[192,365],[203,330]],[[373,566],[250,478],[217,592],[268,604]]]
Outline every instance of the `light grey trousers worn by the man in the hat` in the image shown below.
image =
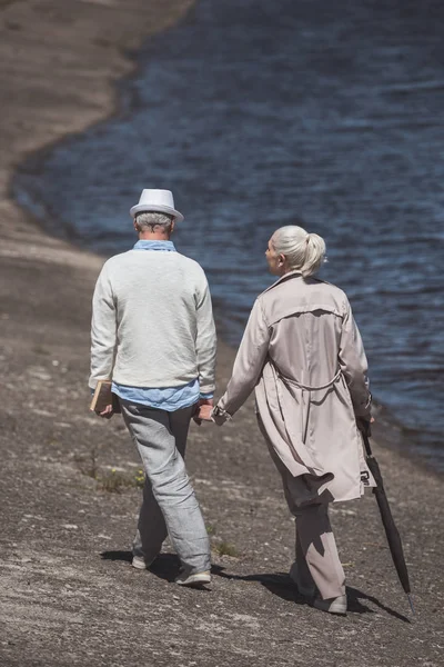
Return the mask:
[[174,412],[120,400],[145,471],[133,555],[150,565],[170,535],[190,574],[209,570],[210,541],[183,460],[194,406]]

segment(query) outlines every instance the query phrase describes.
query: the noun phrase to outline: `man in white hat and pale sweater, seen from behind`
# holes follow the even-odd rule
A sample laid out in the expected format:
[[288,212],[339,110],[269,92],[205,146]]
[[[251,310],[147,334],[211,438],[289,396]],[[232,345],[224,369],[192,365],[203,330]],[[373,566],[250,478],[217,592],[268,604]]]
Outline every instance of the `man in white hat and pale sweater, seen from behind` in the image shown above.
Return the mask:
[[[210,581],[210,544],[183,457],[190,420],[212,405],[215,328],[203,269],[170,236],[183,216],[169,190],[143,190],[131,209],[139,240],[109,259],[92,303],[91,377],[112,379],[143,461],[145,485],[132,565],[144,569],[169,534],[175,581]],[[112,416],[108,406],[101,417]]]

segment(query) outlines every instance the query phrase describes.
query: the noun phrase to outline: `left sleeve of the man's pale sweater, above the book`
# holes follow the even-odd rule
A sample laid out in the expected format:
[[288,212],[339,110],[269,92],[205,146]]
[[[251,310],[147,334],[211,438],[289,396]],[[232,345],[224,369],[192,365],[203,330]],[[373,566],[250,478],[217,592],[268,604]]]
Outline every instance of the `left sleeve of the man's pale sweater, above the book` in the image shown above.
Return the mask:
[[89,386],[95,388],[98,380],[112,378],[117,347],[117,310],[108,276],[102,268],[92,298],[91,321],[91,375]]

